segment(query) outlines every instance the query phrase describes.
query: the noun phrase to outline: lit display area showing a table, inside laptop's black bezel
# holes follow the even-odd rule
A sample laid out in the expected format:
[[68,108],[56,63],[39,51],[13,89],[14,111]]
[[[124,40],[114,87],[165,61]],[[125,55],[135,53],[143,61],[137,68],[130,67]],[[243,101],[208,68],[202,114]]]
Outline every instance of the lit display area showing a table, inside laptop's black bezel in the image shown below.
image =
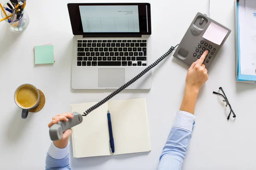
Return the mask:
[[138,6],[79,6],[84,33],[140,32]]

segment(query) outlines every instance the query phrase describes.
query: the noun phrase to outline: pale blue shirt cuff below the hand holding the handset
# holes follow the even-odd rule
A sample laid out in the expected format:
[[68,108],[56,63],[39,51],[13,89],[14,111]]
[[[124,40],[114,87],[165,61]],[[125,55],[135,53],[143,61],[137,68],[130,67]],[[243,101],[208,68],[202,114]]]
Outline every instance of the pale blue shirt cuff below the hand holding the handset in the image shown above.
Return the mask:
[[58,148],[52,142],[51,146],[49,147],[48,154],[54,159],[63,159],[68,155],[69,152],[69,142],[66,147]]

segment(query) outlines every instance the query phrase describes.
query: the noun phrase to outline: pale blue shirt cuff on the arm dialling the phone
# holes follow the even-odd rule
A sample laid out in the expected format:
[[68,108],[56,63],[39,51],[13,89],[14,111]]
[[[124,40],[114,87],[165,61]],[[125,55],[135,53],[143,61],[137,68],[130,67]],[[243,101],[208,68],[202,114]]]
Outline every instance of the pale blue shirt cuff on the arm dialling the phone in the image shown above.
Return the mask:
[[195,116],[185,111],[177,111],[172,127],[179,127],[192,132]]

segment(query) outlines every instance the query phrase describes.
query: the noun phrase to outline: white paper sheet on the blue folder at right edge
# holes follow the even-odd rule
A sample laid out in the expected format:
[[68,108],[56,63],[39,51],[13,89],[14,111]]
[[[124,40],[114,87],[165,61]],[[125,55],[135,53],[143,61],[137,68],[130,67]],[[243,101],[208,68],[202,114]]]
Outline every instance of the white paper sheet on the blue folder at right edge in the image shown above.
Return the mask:
[[241,74],[256,76],[256,1],[239,1]]

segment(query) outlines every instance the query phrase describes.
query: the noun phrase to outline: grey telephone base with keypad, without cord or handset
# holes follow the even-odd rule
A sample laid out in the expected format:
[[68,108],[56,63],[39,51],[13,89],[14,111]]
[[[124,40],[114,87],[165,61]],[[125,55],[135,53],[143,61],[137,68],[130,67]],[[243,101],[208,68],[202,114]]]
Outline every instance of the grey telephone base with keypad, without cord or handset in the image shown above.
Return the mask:
[[209,50],[203,63],[208,69],[230,32],[230,29],[198,12],[173,56],[191,65]]

